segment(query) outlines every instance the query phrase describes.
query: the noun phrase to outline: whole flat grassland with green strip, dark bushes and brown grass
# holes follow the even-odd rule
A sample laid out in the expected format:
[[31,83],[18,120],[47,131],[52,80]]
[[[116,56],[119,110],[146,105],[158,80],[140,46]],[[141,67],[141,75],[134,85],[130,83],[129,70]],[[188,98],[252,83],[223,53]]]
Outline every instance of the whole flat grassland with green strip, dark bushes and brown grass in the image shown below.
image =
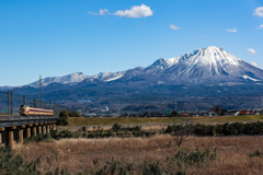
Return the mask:
[[181,118],[76,117],[52,131],[54,139],[16,143],[14,152],[24,162],[38,162],[33,165],[41,174],[263,173],[262,122],[254,122],[262,116],[186,119],[199,124],[180,147],[168,126]]

